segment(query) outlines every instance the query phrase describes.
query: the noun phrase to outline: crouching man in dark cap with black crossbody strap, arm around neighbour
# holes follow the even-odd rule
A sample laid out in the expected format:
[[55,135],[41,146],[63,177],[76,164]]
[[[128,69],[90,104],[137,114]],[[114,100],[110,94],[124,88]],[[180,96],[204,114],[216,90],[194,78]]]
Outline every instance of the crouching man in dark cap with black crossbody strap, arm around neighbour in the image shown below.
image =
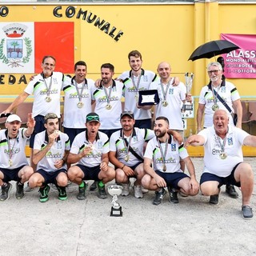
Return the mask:
[[[110,137],[110,162],[116,167],[115,180],[122,183],[122,195],[129,195],[130,178],[136,178],[134,182],[134,197],[143,198],[142,192],[146,192],[141,186],[142,177],[145,175],[143,168],[143,146],[144,143],[154,138],[154,131],[134,127],[134,113],[123,111],[120,117],[122,130],[118,130]],[[174,134],[175,139],[182,142],[178,133],[168,130]]]

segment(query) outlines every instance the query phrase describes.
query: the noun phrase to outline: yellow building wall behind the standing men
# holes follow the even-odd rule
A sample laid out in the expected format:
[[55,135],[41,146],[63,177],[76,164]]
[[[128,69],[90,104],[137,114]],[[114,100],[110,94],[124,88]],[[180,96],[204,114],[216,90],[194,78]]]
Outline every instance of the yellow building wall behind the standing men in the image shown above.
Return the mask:
[[[170,62],[172,73],[182,82],[186,72],[195,75],[192,94],[195,96],[196,115],[198,95],[202,86],[208,82],[206,74],[207,63],[214,59],[188,61],[195,48],[226,34],[256,34],[255,4],[248,3],[164,3],[164,4],[26,4],[8,5],[6,17],[0,17],[0,22],[74,22],[74,62],[86,61],[88,78],[100,77],[100,66],[111,62],[115,73],[121,74],[129,70],[127,55],[130,50],[142,53],[142,67],[156,72],[159,62]],[[58,14],[54,16],[54,8],[59,6]],[[66,10],[75,10],[73,17],[68,18]],[[77,18],[78,10],[97,15],[101,20],[110,23],[110,29],[116,28],[114,34],[123,34],[116,41],[93,23]],[[1,13],[0,13],[1,14]],[[45,53],[47,54],[47,53]],[[55,70],[58,70],[58,60]],[[1,70],[0,70],[1,75]],[[12,102],[17,94],[26,87],[25,84],[8,85],[8,75],[3,74],[4,85],[0,85],[0,101]],[[13,74],[19,78],[21,74]],[[31,74],[25,74],[29,81]],[[238,87],[242,98],[255,98],[254,79],[230,79]],[[2,95],[2,96],[1,96]],[[8,95],[8,97],[3,97]],[[33,98],[30,98],[33,100]],[[188,120],[188,129],[196,130],[194,119]]]

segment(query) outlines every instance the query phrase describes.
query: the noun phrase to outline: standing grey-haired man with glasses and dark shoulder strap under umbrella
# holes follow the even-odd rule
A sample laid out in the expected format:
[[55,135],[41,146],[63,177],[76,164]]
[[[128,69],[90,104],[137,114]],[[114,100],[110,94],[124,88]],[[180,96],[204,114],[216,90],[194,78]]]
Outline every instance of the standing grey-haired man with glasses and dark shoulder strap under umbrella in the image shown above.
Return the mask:
[[[236,113],[238,115],[236,126],[242,128],[242,104],[237,88],[222,77],[223,69],[219,62],[210,62],[207,66],[207,72],[210,83],[202,87],[199,96],[197,112],[198,132],[202,129],[203,114],[203,128],[207,128],[213,125],[214,112],[218,109],[226,111],[231,126],[234,126],[231,114]],[[234,190],[234,186],[227,185],[226,193],[231,198],[238,198],[238,193]]]

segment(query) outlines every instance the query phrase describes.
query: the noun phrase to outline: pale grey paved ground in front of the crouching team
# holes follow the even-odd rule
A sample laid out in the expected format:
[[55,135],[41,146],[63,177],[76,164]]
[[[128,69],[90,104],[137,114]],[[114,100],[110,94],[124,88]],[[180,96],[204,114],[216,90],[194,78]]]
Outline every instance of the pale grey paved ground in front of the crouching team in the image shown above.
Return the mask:
[[[192,160],[199,179],[202,158]],[[255,158],[245,161],[255,172]],[[256,255],[256,214],[250,221],[242,218],[240,190],[232,199],[222,187],[217,206],[201,194],[180,197],[176,205],[166,196],[162,205],[153,206],[154,192],[136,199],[130,190],[118,200],[121,218],[110,217],[110,195],[101,200],[89,191],[81,202],[77,186],[67,190],[66,202],[51,189],[50,200],[41,203],[37,190],[18,201],[13,187],[10,199],[0,204],[0,255]],[[256,186],[254,210],[255,191]]]

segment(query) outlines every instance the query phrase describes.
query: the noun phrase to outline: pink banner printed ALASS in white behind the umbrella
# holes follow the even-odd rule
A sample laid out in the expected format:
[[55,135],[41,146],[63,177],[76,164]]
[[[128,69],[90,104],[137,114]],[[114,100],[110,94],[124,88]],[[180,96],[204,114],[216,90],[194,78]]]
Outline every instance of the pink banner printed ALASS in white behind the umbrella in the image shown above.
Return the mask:
[[240,49],[223,54],[226,78],[256,78],[256,34],[221,34]]

